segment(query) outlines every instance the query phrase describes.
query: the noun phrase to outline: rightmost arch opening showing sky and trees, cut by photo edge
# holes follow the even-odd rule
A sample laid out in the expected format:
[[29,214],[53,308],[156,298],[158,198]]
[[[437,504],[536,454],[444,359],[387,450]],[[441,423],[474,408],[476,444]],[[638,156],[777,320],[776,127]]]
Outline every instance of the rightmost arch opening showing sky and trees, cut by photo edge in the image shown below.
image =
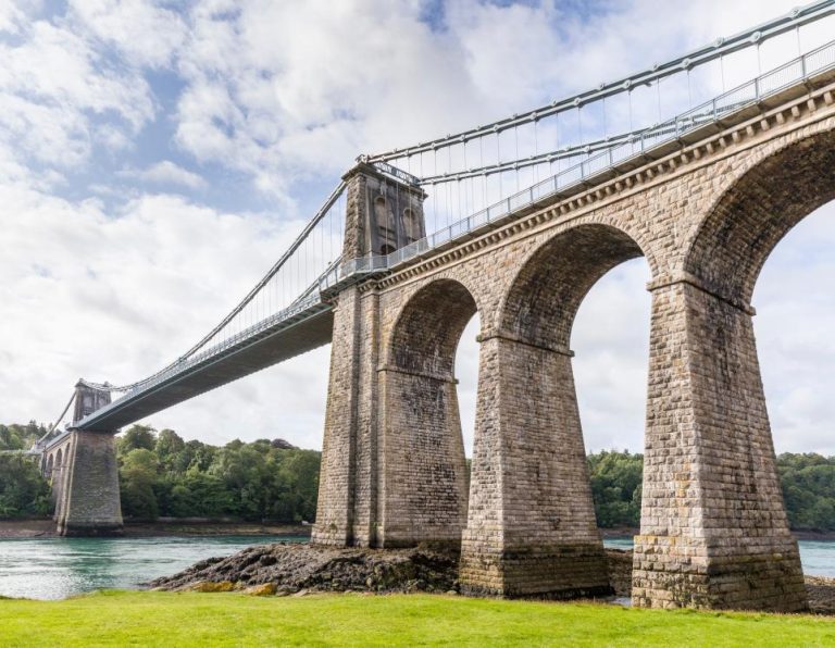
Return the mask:
[[763,390],[795,534],[835,531],[835,299],[827,284],[835,276],[834,246],[835,201],[830,201],[777,244],[753,291]]

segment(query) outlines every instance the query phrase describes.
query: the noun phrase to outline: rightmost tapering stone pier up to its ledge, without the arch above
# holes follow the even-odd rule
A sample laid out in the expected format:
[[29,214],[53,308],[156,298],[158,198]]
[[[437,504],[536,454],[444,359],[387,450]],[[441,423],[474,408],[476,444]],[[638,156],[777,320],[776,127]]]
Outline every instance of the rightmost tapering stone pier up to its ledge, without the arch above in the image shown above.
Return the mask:
[[686,281],[652,291],[637,607],[807,608],[751,313]]

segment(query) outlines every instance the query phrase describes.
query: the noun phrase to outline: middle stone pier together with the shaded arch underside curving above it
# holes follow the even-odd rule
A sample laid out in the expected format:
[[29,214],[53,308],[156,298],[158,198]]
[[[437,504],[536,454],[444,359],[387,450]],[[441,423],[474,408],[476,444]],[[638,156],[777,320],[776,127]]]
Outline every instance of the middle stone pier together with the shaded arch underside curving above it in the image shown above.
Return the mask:
[[612,225],[563,229],[521,263],[495,327],[483,333],[465,590],[549,597],[610,590],[569,341],[591,286],[641,256]]

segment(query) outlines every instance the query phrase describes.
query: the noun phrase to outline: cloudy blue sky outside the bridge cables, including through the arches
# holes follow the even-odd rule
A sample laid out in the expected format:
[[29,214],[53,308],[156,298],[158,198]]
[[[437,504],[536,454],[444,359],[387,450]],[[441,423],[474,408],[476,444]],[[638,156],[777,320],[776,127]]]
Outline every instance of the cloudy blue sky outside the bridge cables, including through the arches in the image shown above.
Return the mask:
[[[0,421],[76,378],[130,382],[202,337],[371,152],[522,112],[788,12],[797,0],[0,0]],[[755,296],[778,450],[835,453],[835,209]],[[573,347],[589,449],[643,446],[643,260]],[[476,327],[459,349],[472,440]],[[149,420],[319,448],[329,349]]]

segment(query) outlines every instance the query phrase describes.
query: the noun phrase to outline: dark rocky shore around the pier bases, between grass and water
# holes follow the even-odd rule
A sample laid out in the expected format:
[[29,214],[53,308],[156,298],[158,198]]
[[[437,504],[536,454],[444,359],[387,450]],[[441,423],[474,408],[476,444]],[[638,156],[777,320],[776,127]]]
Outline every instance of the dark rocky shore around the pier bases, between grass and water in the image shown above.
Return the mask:
[[[606,550],[615,597],[632,594],[632,551]],[[458,594],[458,554],[426,547],[338,549],[303,544],[259,545],[224,558],[210,558],[148,584],[172,591],[245,591],[303,596],[309,593]],[[815,614],[835,614],[835,578],[806,576]]]

